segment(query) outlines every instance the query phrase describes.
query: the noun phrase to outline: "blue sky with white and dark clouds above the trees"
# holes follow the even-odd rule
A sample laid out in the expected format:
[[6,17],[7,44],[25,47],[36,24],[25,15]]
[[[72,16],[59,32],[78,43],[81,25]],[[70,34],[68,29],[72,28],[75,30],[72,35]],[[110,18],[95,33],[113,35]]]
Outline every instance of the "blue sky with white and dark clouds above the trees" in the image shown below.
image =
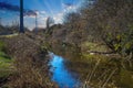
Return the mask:
[[[0,19],[4,25],[19,22],[20,0],[0,0]],[[38,16],[38,28],[45,28],[47,18],[51,16],[54,23],[62,23],[63,15],[71,11],[76,11],[83,0],[23,0],[24,26],[32,30],[35,28],[35,16]]]

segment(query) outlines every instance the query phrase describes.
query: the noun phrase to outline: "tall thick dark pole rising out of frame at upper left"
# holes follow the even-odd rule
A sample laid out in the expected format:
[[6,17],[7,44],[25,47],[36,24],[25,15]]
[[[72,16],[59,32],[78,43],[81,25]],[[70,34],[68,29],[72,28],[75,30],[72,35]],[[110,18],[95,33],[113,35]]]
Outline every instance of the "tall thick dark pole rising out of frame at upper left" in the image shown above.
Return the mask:
[[24,33],[23,29],[23,0],[20,0],[20,33]]

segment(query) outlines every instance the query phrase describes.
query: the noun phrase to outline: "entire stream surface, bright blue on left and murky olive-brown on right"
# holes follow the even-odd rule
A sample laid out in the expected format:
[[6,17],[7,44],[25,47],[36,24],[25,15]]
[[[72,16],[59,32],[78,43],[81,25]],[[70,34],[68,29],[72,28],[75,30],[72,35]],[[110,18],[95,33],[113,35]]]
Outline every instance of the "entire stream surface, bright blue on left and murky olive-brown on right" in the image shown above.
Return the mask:
[[[133,68],[130,68],[126,62],[126,68],[123,68],[119,57],[103,55],[81,56],[81,53],[76,53],[76,48],[60,48],[57,45],[52,50],[58,55],[50,53],[51,80],[55,81],[59,88],[75,88],[75,85],[84,87],[86,80],[89,80],[89,84],[85,88],[99,88],[104,84],[105,88],[133,88]],[[100,59],[99,64],[98,59]],[[95,67],[95,65],[99,66]],[[112,75],[114,70],[115,73]],[[74,75],[73,72],[78,75]]]

